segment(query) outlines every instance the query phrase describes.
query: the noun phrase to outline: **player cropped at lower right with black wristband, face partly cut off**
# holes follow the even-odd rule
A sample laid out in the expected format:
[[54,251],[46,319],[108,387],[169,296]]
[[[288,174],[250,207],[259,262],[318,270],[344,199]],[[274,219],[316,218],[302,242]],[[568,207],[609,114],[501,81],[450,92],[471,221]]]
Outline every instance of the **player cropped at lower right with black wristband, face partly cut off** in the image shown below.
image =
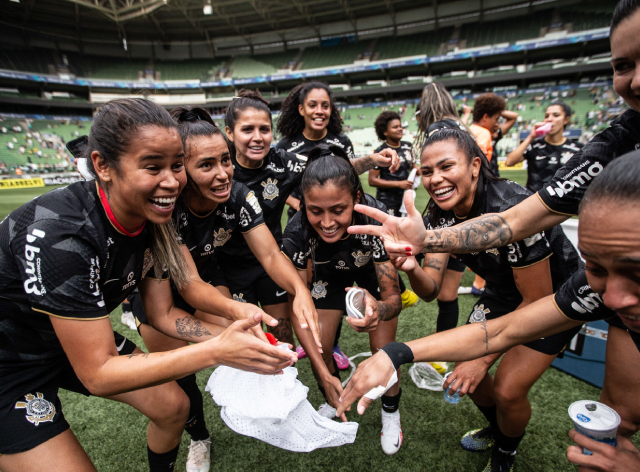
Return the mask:
[[[637,369],[640,358],[639,180],[640,152],[636,151],[616,159],[586,191],[580,205],[578,228],[586,273],[574,274],[554,296],[498,319],[461,326],[406,344],[385,346],[382,350],[387,355],[378,353],[358,366],[344,390],[338,414],[371,388],[387,385],[394,368],[402,364],[432,359],[473,359],[599,319],[617,320],[628,331],[623,332],[625,336],[615,337],[611,337],[612,331],[609,331],[607,358],[614,353],[621,364],[607,362],[605,384],[613,378],[615,388],[628,395],[628,405],[635,406],[640,392]],[[414,208],[410,210],[415,217],[419,216]],[[445,388],[459,387],[453,382],[447,384],[449,382]],[[371,402],[366,398],[360,400],[358,412],[362,414]],[[570,431],[571,439],[593,455],[585,455],[581,448],[571,446],[567,449],[569,461],[585,470],[640,470],[640,451],[627,439],[634,432],[631,429],[634,425],[629,422],[632,412],[623,404],[616,405],[616,411],[622,416],[618,447]]]

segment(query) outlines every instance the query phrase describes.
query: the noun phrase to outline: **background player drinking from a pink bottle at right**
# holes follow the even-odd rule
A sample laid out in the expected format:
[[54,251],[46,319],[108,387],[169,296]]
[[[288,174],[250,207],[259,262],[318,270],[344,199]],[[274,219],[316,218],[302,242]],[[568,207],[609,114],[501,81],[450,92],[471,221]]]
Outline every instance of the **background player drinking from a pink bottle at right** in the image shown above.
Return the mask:
[[[551,131],[538,137],[538,129],[547,123],[551,124]],[[557,170],[582,149],[582,144],[572,143],[564,137],[569,123],[571,107],[564,102],[553,102],[544,113],[544,121],[533,125],[527,139],[507,156],[507,167],[527,161],[527,188],[532,192],[542,189]]]

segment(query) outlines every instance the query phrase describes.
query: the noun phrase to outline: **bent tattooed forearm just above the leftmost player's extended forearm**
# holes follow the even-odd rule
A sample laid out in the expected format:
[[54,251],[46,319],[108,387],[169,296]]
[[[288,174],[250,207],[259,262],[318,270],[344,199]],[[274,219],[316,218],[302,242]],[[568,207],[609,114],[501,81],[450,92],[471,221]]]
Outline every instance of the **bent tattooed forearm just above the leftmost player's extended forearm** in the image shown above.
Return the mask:
[[149,325],[182,341],[199,343],[218,336],[224,327],[201,321],[173,304],[169,280],[145,278],[140,296]]

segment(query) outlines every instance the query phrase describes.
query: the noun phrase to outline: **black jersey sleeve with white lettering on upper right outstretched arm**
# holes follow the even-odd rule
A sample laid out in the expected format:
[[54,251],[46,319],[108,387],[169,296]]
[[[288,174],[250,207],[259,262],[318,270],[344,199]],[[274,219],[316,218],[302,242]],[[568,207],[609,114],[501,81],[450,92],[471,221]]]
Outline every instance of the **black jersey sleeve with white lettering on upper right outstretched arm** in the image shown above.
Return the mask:
[[627,110],[574,154],[538,192],[551,211],[577,215],[593,179],[615,158],[640,149],[640,113]]

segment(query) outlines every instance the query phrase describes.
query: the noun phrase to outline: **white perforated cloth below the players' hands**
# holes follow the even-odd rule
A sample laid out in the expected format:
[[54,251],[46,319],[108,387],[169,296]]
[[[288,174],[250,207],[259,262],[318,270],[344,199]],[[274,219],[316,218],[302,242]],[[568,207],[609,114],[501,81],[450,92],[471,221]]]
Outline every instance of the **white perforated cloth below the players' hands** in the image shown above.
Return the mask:
[[283,375],[260,375],[222,366],[205,390],[222,407],[222,420],[238,434],[295,452],[353,443],[358,423],[320,416],[297,376],[294,367]]

